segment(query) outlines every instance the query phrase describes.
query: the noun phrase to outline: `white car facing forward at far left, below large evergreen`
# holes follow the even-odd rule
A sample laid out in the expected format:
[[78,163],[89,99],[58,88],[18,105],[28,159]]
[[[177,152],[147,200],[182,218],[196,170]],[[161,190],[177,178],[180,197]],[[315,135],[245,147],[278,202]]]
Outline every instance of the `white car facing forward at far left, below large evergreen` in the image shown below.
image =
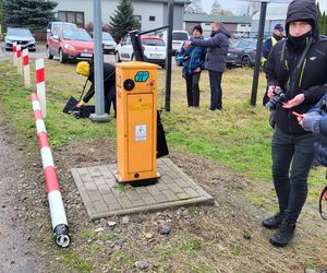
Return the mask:
[[4,34],[5,50],[12,50],[14,41],[21,45],[22,49],[36,50],[35,38],[28,28],[8,27]]

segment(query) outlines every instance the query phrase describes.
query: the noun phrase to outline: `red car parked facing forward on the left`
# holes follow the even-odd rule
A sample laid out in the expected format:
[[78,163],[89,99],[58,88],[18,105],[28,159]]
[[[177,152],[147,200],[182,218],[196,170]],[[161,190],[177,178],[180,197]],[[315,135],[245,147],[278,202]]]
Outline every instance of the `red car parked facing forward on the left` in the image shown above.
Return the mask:
[[93,54],[93,39],[83,28],[58,27],[47,40],[48,59],[57,56],[62,63],[66,60],[89,60]]

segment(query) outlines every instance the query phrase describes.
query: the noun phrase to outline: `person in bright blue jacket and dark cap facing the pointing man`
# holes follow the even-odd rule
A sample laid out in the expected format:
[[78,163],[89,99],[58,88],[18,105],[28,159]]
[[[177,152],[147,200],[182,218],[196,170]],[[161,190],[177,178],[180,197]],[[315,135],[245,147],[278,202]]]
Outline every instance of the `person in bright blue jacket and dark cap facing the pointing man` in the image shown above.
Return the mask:
[[[192,32],[192,40],[203,39],[203,29],[201,25],[196,25]],[[184,43],[185,44],[185,43]],[[199,106],[199,87],[198,82],[201,78],[201,72],[204,70],[206,48],[190,46],[181,48],[181,51],[177,59],[182,59],[183,62],[183,76],[186,81],[186,96],[189,107]]]

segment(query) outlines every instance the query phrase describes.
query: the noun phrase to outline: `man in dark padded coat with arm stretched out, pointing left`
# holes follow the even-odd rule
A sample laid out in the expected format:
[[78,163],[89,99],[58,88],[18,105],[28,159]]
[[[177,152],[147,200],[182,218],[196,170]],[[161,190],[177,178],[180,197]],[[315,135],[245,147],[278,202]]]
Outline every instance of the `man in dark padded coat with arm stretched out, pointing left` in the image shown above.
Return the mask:
[[205,68],[209,70],[211,99],[210,110],[222,109],[221,76],[226,70],[226,58],[229,48],[230,33],[218,22],[211,24],[211,36],[208,39],[193,39],[185,41],[184,47],[207,47]]

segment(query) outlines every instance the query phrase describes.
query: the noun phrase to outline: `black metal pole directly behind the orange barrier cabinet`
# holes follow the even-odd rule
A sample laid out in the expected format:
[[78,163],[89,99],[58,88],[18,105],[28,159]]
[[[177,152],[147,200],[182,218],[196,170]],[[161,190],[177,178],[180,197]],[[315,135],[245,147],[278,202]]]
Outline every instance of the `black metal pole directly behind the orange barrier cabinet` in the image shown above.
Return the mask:
[[172,57],[172,27],[173,27],[173,0],[168,1],[168,37],[167,37],[167,59],[166,59],[166,96],[165,109],[170,111],[171,93],[171,57]]

